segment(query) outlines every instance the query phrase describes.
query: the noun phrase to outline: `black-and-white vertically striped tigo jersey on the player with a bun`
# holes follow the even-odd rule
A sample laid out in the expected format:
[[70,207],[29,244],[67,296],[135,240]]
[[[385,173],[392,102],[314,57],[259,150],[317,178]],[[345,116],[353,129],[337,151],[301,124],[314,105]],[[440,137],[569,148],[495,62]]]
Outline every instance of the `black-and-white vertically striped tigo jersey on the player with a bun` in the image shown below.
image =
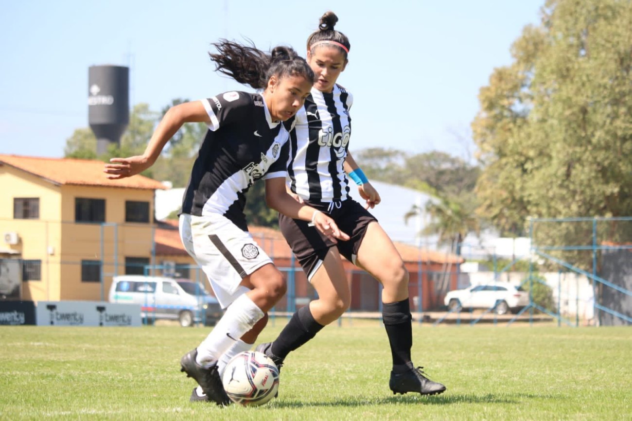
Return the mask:
[[349,109],[353,97],[340,85],[331,93],[312,88],[296,113],[290,133],[288,183],[306,200],[346,200],[349,180],[343,163],[351,136]]

